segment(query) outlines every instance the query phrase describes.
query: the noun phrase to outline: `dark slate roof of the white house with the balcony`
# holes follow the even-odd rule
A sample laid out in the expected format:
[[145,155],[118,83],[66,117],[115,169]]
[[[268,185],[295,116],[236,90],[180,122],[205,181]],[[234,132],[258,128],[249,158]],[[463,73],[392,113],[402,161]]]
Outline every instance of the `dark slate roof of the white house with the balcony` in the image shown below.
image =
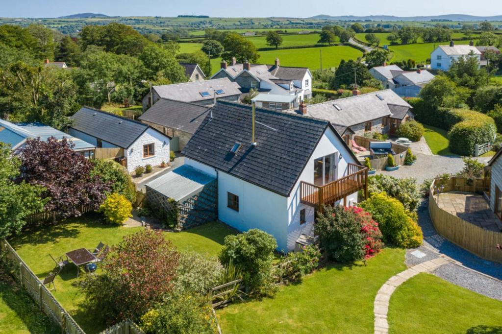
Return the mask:
[[[220,100],[212,108],[212,118],[206,116],[181,153],[289,196],[327,127],[332,128],[327,121],[257,108],[254,146],[251,106]],[[236,142],[242,146],[233,154],[230,149]],[[347,154],[352,154],[346,149]],[[357,161],[353,154],[352,157]]]

